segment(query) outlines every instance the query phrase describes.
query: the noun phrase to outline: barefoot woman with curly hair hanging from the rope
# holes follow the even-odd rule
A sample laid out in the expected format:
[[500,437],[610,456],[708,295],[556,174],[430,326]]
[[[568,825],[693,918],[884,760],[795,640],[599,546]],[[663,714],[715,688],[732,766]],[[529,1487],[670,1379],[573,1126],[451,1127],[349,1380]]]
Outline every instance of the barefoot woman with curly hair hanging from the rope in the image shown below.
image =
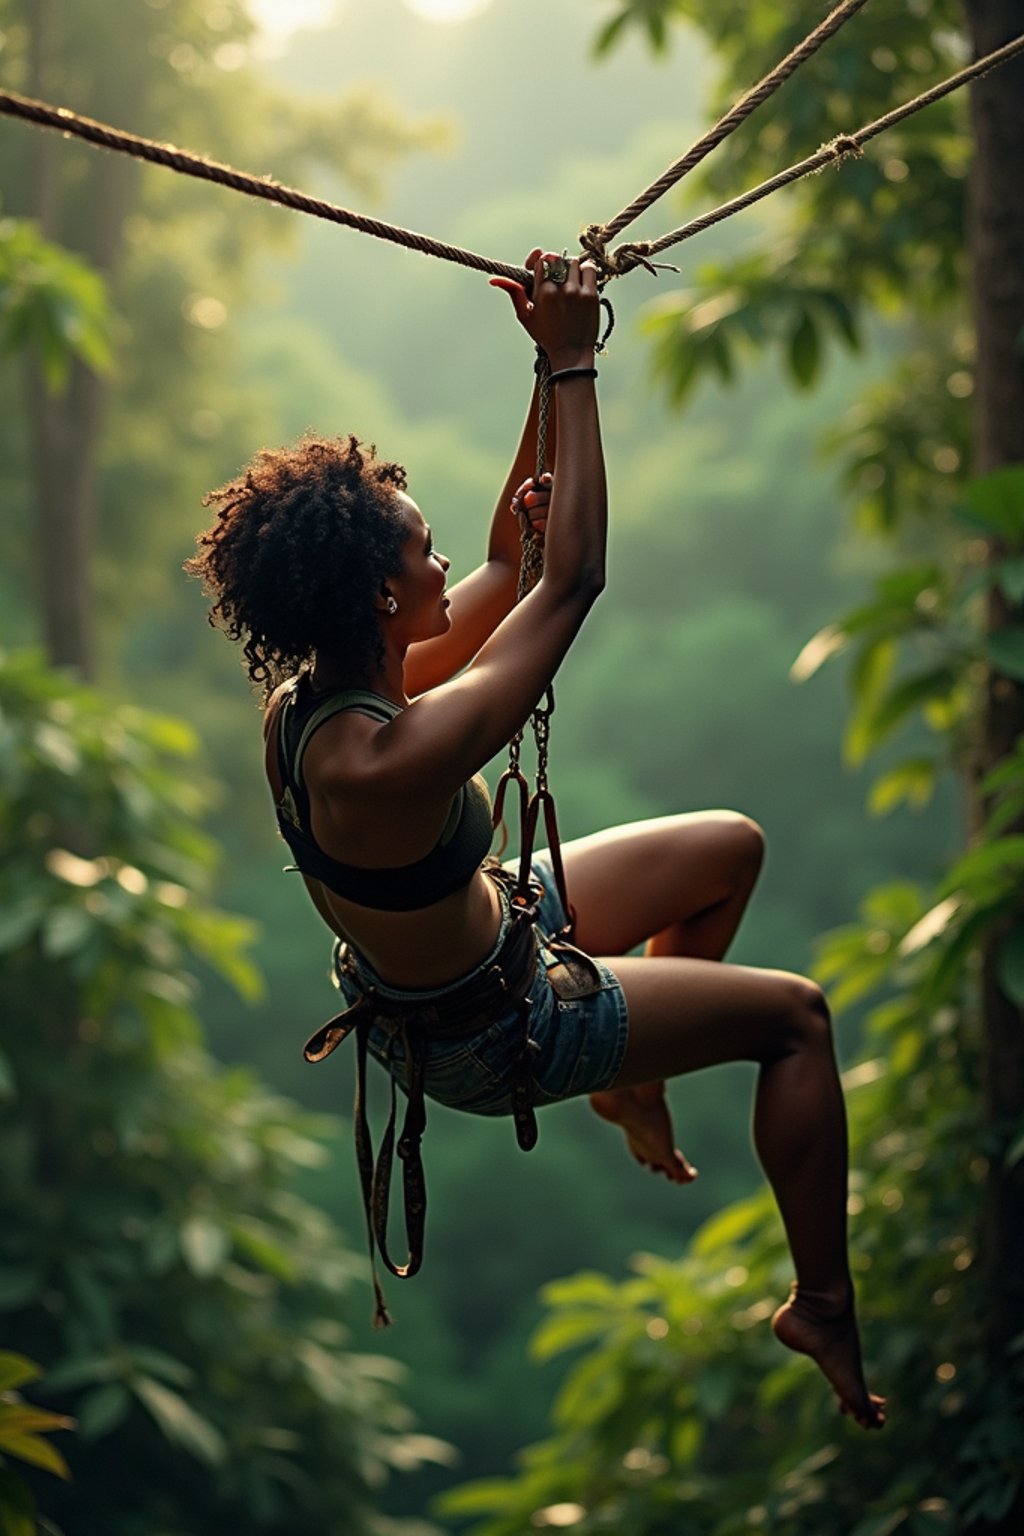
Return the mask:
[[[218,518],[189,568],[216,598],[212,617],[247,637],[281,829],[344,942],[338,982],[362,1008],[368,1049],[410,1104],[422,1074],[445,1103],[514,1114],[528,1144],[534,1104],[586,1094],[640,1163],[685,1184],[695,1169],[674,1146],[665,1078],[757,1061],[754,1138],[797,1275],[775,1333],[818,1362],[844,1412],[880,1427],[846,1256],[846,1124],[826,1003],[803,977],[720,963],[757,879],[760,829],[714,811],[565,848],[576,940],[609,957],[590,974],[545,937],[565,922],[550,859],[534,863],[542,897],[527,914],[536,962],[533,940],[527,951],[517,938],[511,882],[485,857],[488,802],[474,776],[530,717],[605,581],[596,273],[539,250],[527,266],[531,296],[494,286],[550,359],[554,478],[520,484],[534,462],[534,398],[477,571],[448,591],[448,561],[399,465],[355,439],[310,438],[261,453],[207,498]],[[543,574],[517,605],[516,485],[545,535]],[[643,957],[628,955],[643,942]],[[481,1014],[487,986],[499,992]],[[330,1028],[321,1054],[344,1032]],[[419,1130],[407,1123],[399,1144],[413,1163]],[[364,1180],[376,1200],[368,1167]]]

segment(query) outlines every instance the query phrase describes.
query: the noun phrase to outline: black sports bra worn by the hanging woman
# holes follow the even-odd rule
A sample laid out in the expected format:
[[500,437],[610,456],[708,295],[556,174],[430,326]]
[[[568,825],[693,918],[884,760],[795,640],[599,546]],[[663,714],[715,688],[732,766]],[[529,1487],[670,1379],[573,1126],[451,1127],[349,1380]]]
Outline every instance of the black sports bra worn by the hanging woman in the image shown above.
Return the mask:
[[413,912],[433,906],[468,885],[484,863],[491,845],[491,800],[477,774],[462,785],[438,843],[410,865],[391,869],[365,869],[341,863],[318,846],[310,823],[310,802],[302,783],[302,756],[315,731],[325,720],[353,710],[375,720],[393,720],[402,705],[379,693],[342,690],[318,696],[293,680],[278,714],[278,760],[284,790],[276,803],[278,828],[292,849],[295,868],[319,880],[335,895],[381,912]]

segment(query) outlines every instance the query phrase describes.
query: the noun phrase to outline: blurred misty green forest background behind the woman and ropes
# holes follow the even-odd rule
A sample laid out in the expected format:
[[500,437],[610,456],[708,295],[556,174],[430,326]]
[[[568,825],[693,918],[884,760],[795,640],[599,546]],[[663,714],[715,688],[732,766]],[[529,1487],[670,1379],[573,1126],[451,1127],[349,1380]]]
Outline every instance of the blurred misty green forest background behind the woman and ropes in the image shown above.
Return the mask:
[[[457,25],[441,25],[442,9],[431,20],[427,0],[309,12],[269,0],[0,0],[0,80],[519,261],[534,243],[571,247],[583,223],[626,203],[711,120],[723,78],[735,94],[824,8],[729,5],[705,31],[699,8],[668,0],[481,0]],[[869,6],[778,112],[740,135],[703,200],[963,57],[955,5]],[[929,1135],[946,1138],[950,1163],[976,1118],[975,1078],[956,1078],[943,1046],[958,1028],[949,988],[966,951],[926,1021],[906,1003],[900,1014],[890,968],[969,833],[967,786],[944,765],[970,713],[966,668],[978,665],[975,567],[995,527],[1013,554],[1019,508],[1019,487],[979,492],[973,533],[952,522],[970,470],[956,250],[966,111],[964,95],[883,140],[870,163],[817,178],[803,204],[771,200],[679,247],[679,276],[637,272],[613,286],[600,378],[611,581],[560,673],[553,733],[563,836],[714,806],[765,826],[768,865],[731,958],[831,968],[847,1001],[838,1051],[851,1081],[880,1094],[880,1063],[895,1052],[909,1094],[910,1069],[927,1068],[920,1094],[938,1103],[946,1089],[950,1115]],[[72,1468],[68,1487],[41,1475],[58,1470],[38,1435],[52,1425],[29,1416],[12,1432],[31,1445],[11,1439],[9,1455],[20,1445],[37,1470],[0,1471],[8,1528],[31,1530],[15,1518],[31,1518],[32,1498],[68,1536],[292,1531],[296,1511],[304,1528],[345,1536],[481,1518],[494,1533],[654,1536],[679,1528],[685,1498],[697,1501],[692,1528],[723,1533],[906,1525],[941,1536],[998,1522],[1018,1487],[1016,1398],[1001,1399],[1003,1441],[981,1456],[967,1518],[941,1458],[897,1476],[895,1447],[884,1468],[870,1464],[878,1508],[861,1464],[829,1491],[817,1381],[760,1352],[732,1375],[718,1369],[749,1342],[728,1322],[735,1309],[754,1321],[758,1298],[785,1284],[749,1147],[746,1069],[672,1084],[680,1141],[702,1169],[683,1192],[634,1167],[585,1104],[545,1114],[528,1158],[508,1124],[431,1109],[425,1269],[393,1287],[396,1329],[372,1333],[352,1061],[339,1052],[313,1072],[301,1057],[333,1011],[325,935],[281,872],[238,656],[206,625],[181,562],[204,492],[261,444],[315,427],[355,432],[405,462],[453,574],[464,573],[517,439],[531,352],[508,301],[477,275],[6,120],[0,143],[0,771],[12,849],[0,919],[0,1350],[37,1361],[34,1399],[78,1421],[52,1442]],[[829,197],[834,223],[821,215]],[[674,194],[649,217],[652,232],[682,209]],[[829,237],[849,237],[847,250],[861,241],[847,287]],[[889,292],[877,276],[886,264]],[[904,502],[917,516],[901,516]],[[949,571],[964,568],[973,587],[961,602]],[[844,630],[838,616],[857,611],[860,627]],[[940,637],[932,684],[900,702],[897,648],[926,619],[949,619],[960,659]],[[64,671],[46,673],[41,650]],[[1006,665],[1021,674],[1019,657]],[[75,671],[89,690],[61,680]],[[915,713],[921,702],[930,713]],[[964,917],[1007,900],[1019,868],[999,871],[1003,883],[989,869],[989,905],[978,897]],[[936,920],[904,955],[941,931]],[[821,935],[832,935],[824,949]],[[866,1017],[878,986],[890,1009],[881,1023]],[[900,1083],[890,1092],[855,1118],[864,1137],[897,1112]],[[892,1170],[874,1183],[880,1144],[852,1204],[877,1210],[881,1224],[866,1220],[866,1232],[892,1246],[889,1264],[877,1255],[884,1296],[867,1293],[869,1353],[886,1313],[890,1341],[903,1341],[886,1355],[897,1407],[946,1415],[952,1428],[956,1404],[901,1404],[901,1372],[938,1390],[947,1356],[936,1346],[926,1358],[918,1301],[900,1315],[910,1284],[900,1266],[917,1255],[921,1267],[923,1233],[935,1232],[952,1275],[970,1252],[969,1223],[943,1163],[935,1187],[952,1206],[907,1209],[918,1232],[907,1247],[904,1186]],[[897,1149],[907,1180],[921,1146]],[[975,1189],[981,1178],[979,1166]],[[706,1227],[725,1207],[731,1224]],[[760,1258],[737,1258],[751,1232],[766,1233]],[[717,1281],[700,1278],[702,1252]],[[545,1307],[540,1287],[577,1270]],[[929,1270],[920,1295],[946,1284]],[[715,1307],[720,1329],[702,1339],[700,1313]],[[669,1332],[663,1318],[682,1362],[643,1355]],[[574,1396],[559,1395],[553,1356],[593,1339],[605,1353]],[[798,1455],[786,1461],[785,1439],[769,1436],[745,1471],[797,1488],[792,1508],[766,1513],[740,1471],[732,1507],[725,1462],[694,1470],[695,1430],[656,1445],[656,1428],[623,1409],[651,1393],[668,1404],[691,1370],[691,1418],[726,1425],[738,1412],[742,1433],[760,1433],[749,1415],[758,1373],[772,1369],[774,1409],[758,1399],[758,1412],[792,1416]],[[28,1370],[0,1364],[0,1390]],[[553,1402],[562,1438],[517,1479],[516,1452],[550,1432]],[[906,1441],[897,1447],[906,1459]],[[433,1504],[470,1479],[499,1481],[453,1495],[447,1513]],[[674,1504],[659,1502],[669,1482]]]

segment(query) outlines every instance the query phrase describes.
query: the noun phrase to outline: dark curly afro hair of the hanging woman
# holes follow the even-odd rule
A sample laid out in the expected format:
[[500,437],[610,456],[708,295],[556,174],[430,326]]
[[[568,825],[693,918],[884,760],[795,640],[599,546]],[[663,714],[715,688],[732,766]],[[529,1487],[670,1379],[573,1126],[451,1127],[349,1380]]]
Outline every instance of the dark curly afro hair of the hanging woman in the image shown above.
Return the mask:
[[203,498],[216,521],[186,561],[215,598],[210,624],[246,637],[249,677],[264,699],[318,650],[347,660],[353,680],[384,659],[381,582],[402,567],[408,525],[401,464],[355,436],[312,433],[261,449],[238,479]]

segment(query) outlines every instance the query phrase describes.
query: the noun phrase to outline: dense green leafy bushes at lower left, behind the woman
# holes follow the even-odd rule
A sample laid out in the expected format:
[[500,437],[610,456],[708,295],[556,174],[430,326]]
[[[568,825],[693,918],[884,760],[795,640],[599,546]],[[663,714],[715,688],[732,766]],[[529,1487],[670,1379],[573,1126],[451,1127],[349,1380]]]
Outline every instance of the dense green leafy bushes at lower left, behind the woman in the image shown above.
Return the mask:
[[[83,1536],[411,1533],[378,1490],[445,1447],[352,1349],[364,1261],[299,1192],[335,1127],[203,1041],[195,965],[259,977],[250,925],[203,895],[193,757],[181,722],[3,657],[0,1315],[75,1424],[71,1482],[37,1499]],[[57,1470],[32,1413],[0,1450]]]

